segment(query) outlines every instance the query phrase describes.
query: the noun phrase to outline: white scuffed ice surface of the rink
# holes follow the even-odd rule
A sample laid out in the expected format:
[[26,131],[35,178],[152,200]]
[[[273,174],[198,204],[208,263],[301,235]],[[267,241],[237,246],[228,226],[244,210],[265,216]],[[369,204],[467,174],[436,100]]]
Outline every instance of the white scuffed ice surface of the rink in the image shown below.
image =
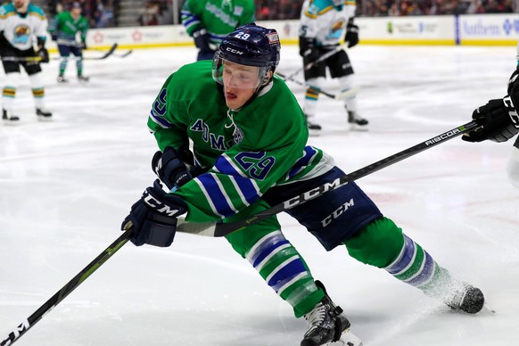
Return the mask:
[[[370,129],[350,132],[342,104],[322,97],[323,134],[309,140],[346,171],[470,121],[475,107],[506,94],[515,68],[514,47],[358,45],[349,54]],[[43,65],[55,118],[47,123],[37,121],[22,76],[21,123],[0,126],[0,340],[119,236],[130,205],[154,179],[150,105],[169,73],[194,57],[194,48],[170,48],[88,61],[86,85],[74,78],[74,63],[70,84],[57,85],[54,60]],[[297,47],[285,46],[279,70],[300,64]],[[337,92],[335,83],[326,87]],[[290,86],[302,101],[301,86]],[[358,182],[441,265],[481,287],[495,314],[453,313],[343,248],[325,252],[280,216],[365,345],[517,344],[519,191],[505,173],[511,146],[456,138]],[[168,249],[128,243],[17,345],[291,346],[305,328],[225,239],[179,234]]]

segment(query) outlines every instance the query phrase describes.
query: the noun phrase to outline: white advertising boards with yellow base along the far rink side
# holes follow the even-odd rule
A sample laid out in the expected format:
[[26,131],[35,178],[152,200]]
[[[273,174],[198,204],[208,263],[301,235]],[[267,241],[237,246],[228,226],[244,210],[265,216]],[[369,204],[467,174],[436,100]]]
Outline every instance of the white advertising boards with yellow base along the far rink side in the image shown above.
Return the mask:
[[[519,13],[359,17],[355,22],[364,45],[516,45],[519,37]],[[282,44],[297,45],[299,21],[258,24],[275,28]],[[107,48],[114,43],[122,48],[193,45],[182,25],[90,29],[87,42],[92,48]],[[50,43],[49,48],[53,47],[55,44]]]

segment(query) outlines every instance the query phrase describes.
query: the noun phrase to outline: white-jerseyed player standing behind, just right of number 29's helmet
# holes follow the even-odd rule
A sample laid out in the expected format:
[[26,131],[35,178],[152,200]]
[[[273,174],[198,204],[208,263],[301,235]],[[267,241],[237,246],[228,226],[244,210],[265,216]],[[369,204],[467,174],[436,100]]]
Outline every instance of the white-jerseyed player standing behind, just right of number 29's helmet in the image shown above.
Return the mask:
[[[348,47],[358,44],[358,27],[353,24],[355,9],[355,0],[305,0],[301,9],[299,29],[303,66],[316,62],[319,57],[337,48],[343,36],[348,42]],[[313,121],[317,113],[319,95],[316,88],[322,87],[325,82],[326,67],[330,70],[332,78],[338,79],[343,90],[354,86],[353,68],[344,50],[339,50],[324,62],[313,64],[308,70],[305,69],[305,80],[313,87],[307,88],[303,109],[309,120],[310,133],[313,135],[317,135],[321,129]],[[352,128],[367,128],[367,119],[358,116],[354,95],[344,100],[344,106]]]

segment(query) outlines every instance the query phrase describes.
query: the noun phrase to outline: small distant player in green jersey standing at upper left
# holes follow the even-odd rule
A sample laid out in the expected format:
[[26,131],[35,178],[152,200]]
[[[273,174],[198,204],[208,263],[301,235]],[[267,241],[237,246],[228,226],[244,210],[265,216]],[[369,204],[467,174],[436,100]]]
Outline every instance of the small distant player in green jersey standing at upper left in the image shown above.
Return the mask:
[[[58,13],[51,21],[49,32],[53,41],[58,44],[60,51],[60,73],[58,83],[65,83],[65,70],[69,62],[70,53],[75,56],[76,70],[79,81],[88,81],[83,76],[83,50],[86,49],[86,32],[88,31],[88,20],[81,15],[81,4],[75,2],[71,5],[70,12]],[[79,42],[77,39],[79,38]]]

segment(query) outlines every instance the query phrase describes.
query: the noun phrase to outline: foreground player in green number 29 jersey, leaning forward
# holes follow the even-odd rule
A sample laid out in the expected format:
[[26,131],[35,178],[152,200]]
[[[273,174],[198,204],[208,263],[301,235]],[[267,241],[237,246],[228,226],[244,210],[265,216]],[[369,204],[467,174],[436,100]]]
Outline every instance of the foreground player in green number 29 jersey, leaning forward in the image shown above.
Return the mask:
[[[169,246],[180,215],[188,222],[249,218],[344,175],[333,158],[307,145],[304,113],[284,81],[274,77],[279,58],[276,30],[251,23],[224,39],[212,63],[194,62],[169,76],[148,127],[161,149],[152,167],[175,191],[165,193],[158,181],[144,191],[121,226],[133,227],[132,243]],[[327,251],[345,247],[356,260],[383,268],[451,309],[476,313],[483,307],[479,289],[450,276],[355,183],[287,212]],[[340,338],[360,343],[276,216],[226,238],[295,317],[307,319],[301,346]]]

